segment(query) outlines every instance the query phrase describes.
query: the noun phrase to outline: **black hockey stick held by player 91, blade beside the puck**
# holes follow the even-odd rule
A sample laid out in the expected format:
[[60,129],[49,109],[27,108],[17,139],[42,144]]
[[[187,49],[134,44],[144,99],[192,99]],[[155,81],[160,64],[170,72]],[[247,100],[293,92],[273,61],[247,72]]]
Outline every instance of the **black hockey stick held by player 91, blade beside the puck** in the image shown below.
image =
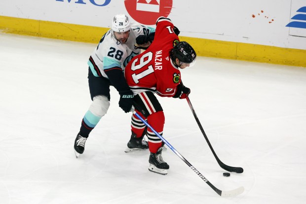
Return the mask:
[[218,158],[217,154],[215,153],[213,147],[211,146],[211,144],[210,144],[210,142],[209,142],[209,140],[208,140],[208,137],[207,137],[207,135],[205,134],[204,129],[203,129],[203,127],[202,127],[202,125],[201,125],[199,119],[197,118],[197,116],[196,116],[196,114],[195,114],[195,111],[194,111],[194,109],[193,109],[193,106],[191,105],[191,102],[190,102],[189,97],[187,96],[186,99],[187,99],[187,102],[188,102],[188,104],[189,104],[189,107],[190,107],[190,109],[191,109],[191,112],[192,112],[192,114],[193,114],[193,116],[194,116],[194,119],[195,119],[196,123],[198,124],[198,126],[199,126],[199,128],[200,128],[200,130],[201,130],[201,132],[202,132],[202,134],[203,134],[203,136],[204,136],[204,138],[205,138],[205,140],[206,140],[206,142],[207,142],[207,144],[208,144],[210,150],[212,151],[213,155],[215,156],[215,158],[216,158],[217,162],[219,163],[219,165],[221,166],[221,168],[223,168],[223,169],[225,169],[225,170],[227,170],[227,171],[229,171],[229,172],[242,173],[242,172],[243,172],[243,168],[241,168],[241,167],[228,166],[228,165],[226,165],[225,163],[221,162],[221,160]]

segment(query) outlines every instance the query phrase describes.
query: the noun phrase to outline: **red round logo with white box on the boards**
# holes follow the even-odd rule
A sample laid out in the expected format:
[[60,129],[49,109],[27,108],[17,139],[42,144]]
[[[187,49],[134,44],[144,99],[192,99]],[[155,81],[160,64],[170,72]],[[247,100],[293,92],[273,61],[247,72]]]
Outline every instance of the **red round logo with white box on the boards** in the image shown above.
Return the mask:
[[138,23],[154,25],[160,16],[168,17],[172,0],[124,0],[126,10]]

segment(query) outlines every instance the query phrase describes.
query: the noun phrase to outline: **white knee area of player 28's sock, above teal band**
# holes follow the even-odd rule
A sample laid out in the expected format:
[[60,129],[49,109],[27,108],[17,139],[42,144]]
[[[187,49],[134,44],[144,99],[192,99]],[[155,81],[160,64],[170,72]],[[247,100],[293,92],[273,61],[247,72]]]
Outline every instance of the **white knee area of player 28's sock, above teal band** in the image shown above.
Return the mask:
[[96,116],[103,117],[110,107],[110,101],[107,96],[98,95],[93,97],[89,111]]

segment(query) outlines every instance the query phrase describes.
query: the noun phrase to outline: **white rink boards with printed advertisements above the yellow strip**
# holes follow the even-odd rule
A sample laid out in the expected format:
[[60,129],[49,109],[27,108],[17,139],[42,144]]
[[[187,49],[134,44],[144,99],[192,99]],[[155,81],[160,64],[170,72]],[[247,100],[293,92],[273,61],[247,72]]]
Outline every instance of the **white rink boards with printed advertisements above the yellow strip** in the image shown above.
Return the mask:
[[305,7],[305,0],[0,0],[0,16],[100,28],[118,13],[151,27],[164,16],[184,37],[306,49]]

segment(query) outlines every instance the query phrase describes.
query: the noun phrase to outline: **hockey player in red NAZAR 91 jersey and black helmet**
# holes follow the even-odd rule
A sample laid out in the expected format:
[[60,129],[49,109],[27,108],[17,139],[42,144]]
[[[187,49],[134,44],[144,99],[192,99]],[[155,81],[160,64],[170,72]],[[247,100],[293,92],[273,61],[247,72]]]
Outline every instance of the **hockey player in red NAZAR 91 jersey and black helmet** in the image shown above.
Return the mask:
[[[135,56],[124,72],[126,82],[134,93],[135,111],[160,135],[163,133],[165,117],[154,93],[161,97],[186,98],[190,89],[181,82],[179,68],[192,66],[196,59],[191,45],[185,41],[180,42],[173,29],[169,18],[158,18],[152,44],[145,52]],[[131,128],[134,137],[143,136],[146,133],[145,127],[133,114]],[[169,165],[161,157],[162,142],[150,128],[147,129],[147,136],[149,170],[165,175]]]

